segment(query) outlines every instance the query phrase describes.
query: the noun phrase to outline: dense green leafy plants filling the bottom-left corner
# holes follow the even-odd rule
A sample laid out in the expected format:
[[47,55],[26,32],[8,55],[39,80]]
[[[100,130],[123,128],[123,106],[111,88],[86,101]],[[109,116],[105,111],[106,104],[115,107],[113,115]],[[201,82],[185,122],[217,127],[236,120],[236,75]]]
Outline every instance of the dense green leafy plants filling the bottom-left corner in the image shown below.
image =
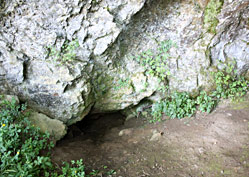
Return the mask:
[[[40,132],[28,119],[26,105],[0,98],[0,176],[90,177],[82,159],[55,167],[49,151],[54,147],[48,133]],[[96,171],[95,171],[96,172]],[[114,174],[111,170],[106,174]]]

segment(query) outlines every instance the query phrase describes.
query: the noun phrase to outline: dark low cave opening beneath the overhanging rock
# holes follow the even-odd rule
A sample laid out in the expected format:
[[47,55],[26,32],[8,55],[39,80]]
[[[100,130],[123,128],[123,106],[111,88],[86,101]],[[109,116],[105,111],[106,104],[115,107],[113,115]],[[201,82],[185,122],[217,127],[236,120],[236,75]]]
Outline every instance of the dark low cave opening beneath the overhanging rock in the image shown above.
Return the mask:
[[82,121],[69,126],[68,133],[62,141],[90,139],[94,143],[101,143],[106,133],[112,131],[114,128],[122,127],[124,122],[125,116],[120,112],[89,114]]

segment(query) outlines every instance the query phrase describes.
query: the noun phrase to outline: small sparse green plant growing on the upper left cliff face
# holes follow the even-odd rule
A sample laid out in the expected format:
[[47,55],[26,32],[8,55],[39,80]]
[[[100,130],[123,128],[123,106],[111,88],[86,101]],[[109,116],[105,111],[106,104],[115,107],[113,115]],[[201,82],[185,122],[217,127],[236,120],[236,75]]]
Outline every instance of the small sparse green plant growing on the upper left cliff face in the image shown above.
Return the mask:
[[55,61],[60,61],[62,64],[69,63],[76,58],[76,49],[79,47],[78,40],[66,41],[61,50],[56,49],[55,46],[47,47],[49,56]]

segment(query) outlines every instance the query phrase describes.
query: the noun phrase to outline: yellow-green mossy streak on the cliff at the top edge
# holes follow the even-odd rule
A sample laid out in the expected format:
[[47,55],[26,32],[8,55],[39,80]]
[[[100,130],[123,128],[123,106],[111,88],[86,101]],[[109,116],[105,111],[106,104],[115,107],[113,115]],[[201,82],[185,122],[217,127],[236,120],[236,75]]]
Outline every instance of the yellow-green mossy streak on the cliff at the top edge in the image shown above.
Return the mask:
[[208,32],[215,34],[219,23],[217,15],[220,13],[224,0],[210,0],[204,12],[204,24]]

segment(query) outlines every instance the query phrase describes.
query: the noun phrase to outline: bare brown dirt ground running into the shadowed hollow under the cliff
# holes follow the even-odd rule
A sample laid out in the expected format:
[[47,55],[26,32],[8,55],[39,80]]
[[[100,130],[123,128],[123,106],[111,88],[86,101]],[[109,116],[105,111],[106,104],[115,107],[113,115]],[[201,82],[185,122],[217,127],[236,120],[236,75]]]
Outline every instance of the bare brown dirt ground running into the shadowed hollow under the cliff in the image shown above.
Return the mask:
[[[81,131],[78,127],[82,128]],[[249,176],[249,97],[211,113],[148,124],[120,114],[86,119],[57,143],[53,161],[83,158],[87,172],[117,177]]]

